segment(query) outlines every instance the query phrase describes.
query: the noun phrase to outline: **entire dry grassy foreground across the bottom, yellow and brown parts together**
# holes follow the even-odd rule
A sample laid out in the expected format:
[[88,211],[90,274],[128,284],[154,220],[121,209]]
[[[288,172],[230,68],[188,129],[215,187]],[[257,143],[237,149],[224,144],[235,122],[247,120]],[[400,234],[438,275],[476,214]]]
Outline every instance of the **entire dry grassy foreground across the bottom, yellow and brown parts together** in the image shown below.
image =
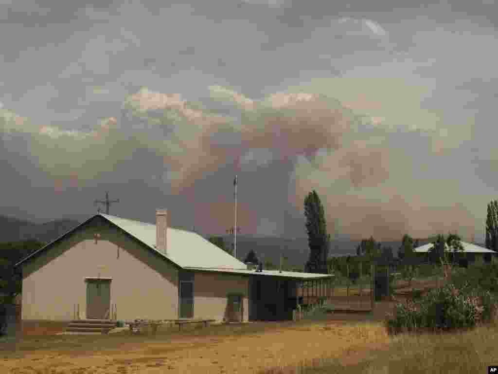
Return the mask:
[[486,373],[497,345],[497,325],[389,337],[380,321],[254,323],[155,337],[29,337],[0,351],[0,373]]

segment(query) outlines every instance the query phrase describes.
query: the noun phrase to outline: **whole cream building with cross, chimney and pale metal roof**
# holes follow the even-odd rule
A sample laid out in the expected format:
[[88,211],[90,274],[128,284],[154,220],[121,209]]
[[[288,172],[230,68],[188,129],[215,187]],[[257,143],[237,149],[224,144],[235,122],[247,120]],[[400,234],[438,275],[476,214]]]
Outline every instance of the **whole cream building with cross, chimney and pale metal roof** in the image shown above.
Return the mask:
[[[22,320],[286,320],[296,289],[332,275],[249,270],[202,236],[97,214],[18,262]],[[318,287],[316,287],[318,289]]]

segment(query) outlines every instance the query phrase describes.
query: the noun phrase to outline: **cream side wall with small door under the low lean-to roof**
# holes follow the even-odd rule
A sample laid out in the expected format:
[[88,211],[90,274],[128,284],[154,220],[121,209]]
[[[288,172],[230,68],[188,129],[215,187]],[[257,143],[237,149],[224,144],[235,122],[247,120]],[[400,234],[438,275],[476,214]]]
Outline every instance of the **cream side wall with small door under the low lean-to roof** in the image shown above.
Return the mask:
[[222,321],[227,316],[229,293],[243,294],[243,321],[249,320],[249,277],[196,272],[194,276],[194,318]]

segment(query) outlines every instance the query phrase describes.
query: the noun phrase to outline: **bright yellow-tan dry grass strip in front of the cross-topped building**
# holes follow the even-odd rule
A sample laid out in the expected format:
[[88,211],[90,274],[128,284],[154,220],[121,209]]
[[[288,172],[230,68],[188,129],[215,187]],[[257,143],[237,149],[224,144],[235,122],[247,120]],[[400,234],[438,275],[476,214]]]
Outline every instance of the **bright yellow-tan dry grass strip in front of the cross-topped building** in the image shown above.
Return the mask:
[[330,321],[213,326],[156,337],[45,336],[20,342],[17,354],[0,354],[0,372],[255,373],[295,366],[303,357],[365,352],[389,339],[381,323]]

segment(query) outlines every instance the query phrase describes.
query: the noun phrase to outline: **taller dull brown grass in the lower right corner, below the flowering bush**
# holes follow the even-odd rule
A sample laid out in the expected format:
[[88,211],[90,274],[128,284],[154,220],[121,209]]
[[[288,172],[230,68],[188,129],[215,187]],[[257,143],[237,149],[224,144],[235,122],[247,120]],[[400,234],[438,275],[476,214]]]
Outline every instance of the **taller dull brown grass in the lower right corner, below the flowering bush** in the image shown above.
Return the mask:
[[487,373],[498,363],[498,327],[481,326],[452,334],[403,335],[388,349],[341,358],[322,357],[293,367],[277,367],[260,374],[472,374]]

